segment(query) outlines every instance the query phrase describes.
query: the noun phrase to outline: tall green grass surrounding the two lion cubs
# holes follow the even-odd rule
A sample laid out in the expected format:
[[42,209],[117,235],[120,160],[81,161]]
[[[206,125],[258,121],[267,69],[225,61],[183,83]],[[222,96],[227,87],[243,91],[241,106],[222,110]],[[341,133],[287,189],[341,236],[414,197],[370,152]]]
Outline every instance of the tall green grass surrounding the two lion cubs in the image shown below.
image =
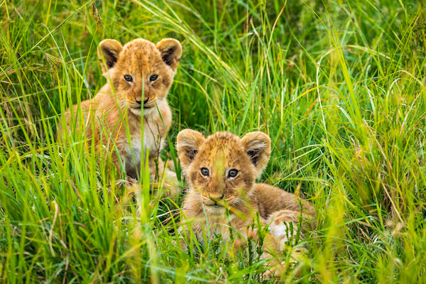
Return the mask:
[[420,2],[0,1],[0,280],[261,281],[262,261],[220,240],[182,251],[178,204],[146,182],[125,193],[81,138],[55,143],[60,114],[105,83],[100,40],[173,37],[169,146],[185,128],[265,131],[261,180],[315,205],[283,282],[426,283]]

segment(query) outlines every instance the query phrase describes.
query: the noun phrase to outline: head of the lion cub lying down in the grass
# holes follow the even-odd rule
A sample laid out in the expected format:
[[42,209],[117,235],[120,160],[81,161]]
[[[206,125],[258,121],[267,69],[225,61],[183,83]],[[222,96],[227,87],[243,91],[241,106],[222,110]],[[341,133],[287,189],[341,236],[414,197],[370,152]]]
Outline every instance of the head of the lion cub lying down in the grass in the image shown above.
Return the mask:
[[185,129],[178,134],[178,155],[190,194],[210,213],[224,212],[224,205],[236,209],[244,202],[271,155],[271,139],[262,132],[239,138],[217,132],[204,138],[202,133]]

